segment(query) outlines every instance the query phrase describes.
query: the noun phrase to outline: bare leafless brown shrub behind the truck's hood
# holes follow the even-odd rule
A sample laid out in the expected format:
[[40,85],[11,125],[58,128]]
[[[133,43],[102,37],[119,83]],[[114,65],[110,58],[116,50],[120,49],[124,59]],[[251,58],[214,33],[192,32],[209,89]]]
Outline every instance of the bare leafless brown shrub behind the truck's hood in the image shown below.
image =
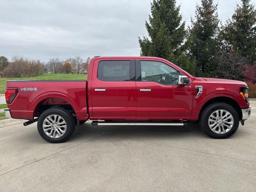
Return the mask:
[[244,65],[250,60],[237,52],[226,52],[218,58],[219,77],[224,79],[242,80]]

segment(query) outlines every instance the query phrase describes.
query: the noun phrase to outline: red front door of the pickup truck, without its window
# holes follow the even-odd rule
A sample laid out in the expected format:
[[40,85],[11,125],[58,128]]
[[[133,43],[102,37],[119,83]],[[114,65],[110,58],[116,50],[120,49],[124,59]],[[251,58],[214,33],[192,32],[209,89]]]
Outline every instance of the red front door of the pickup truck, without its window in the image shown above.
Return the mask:
[[[180,68],[177,68],[177,66],[165,60],[151,59],[151,61],[160,61],[176,70],[180,70]],[[186,72],[182,72],[190,77]],[[151,89],[151,91],[141,92],[140,89]],[[188,86],[178,86],[163,85],[157,82],[137,81],[136,118],[152,120],[188,120],[191,116],[193,91],[192,83]]]

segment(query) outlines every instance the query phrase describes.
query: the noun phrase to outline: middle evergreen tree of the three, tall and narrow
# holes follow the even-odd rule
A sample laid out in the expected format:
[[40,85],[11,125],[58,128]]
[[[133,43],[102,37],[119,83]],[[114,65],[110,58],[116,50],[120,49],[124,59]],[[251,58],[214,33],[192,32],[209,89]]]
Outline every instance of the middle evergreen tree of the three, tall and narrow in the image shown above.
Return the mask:
[[190,56],[197,60],[196,74],[216,76],[216,56],[220,48],[217,4],[213,0],[201,0],[201,5],[196,5],[196,15],[191,18],[191,23]]

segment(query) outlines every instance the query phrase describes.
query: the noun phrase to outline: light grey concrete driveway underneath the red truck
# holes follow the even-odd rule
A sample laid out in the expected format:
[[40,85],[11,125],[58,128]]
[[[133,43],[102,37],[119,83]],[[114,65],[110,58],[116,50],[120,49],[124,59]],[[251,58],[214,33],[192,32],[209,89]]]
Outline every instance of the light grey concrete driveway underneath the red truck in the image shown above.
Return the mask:
[[[256,102],[252,116],[225,140],[198,124],[77,126],[50,144],[36,124],[0,126],[0,191],[256,191]],[[19,124],[17,124],[19,123]],[[14,125],[10,125],[14,124]]]

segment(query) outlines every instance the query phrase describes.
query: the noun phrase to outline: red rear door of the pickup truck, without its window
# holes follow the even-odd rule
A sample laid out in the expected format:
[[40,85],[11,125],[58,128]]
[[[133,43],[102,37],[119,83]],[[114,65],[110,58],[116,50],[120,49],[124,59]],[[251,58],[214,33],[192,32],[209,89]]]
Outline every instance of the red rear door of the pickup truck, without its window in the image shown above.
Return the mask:
[[[109,59],[97,59],[93,65],[90,86],[93,119],[136,119],[135,81],[104,82],[99,80],[97,78],[98,64],[102,60]],[[97,92],[95,89],[106,89],[106,91]]]

